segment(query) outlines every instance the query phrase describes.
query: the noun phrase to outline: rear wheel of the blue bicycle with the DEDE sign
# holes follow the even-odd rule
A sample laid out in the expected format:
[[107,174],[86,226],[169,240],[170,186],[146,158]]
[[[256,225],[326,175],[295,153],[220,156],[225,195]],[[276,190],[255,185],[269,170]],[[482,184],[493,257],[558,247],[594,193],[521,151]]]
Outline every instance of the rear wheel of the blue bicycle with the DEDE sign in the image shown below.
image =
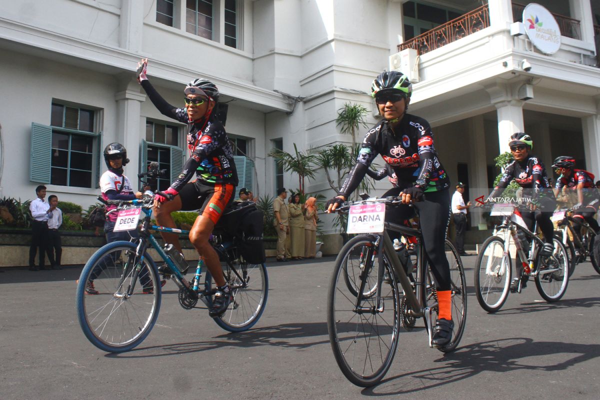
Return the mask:
[[[254,326],[265,311],[269,293],[269,277],[265,264],[246,264],[236,269],[242,278],[247,279],[248,286],[241,287],[241,281],[233,273],[229,264],[224,263],[223,273],[232,286],[233,301],[220,317],[213,317],[215,323],[229,332],[244,332]],[[245,268],[245,272],[244,272]],[[256,282],[260,282],[256,285]],[[207,270],[205,278],[207,290],[212,288],[212,275]],[[256,287],[255,287],[256,285]],[[208,297],[208,305],[212,307],[212,298]]]

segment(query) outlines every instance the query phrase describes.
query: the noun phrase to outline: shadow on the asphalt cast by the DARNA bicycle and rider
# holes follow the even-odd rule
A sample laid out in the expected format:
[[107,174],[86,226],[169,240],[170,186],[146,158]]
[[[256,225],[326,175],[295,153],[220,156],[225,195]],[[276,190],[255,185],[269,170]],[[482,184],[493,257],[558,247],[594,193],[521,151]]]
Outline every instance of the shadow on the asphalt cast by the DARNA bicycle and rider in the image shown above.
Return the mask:
[[[536,356],[568,354],[553,365],[536,364]],[[563,371],[571,366],[600,356],[598,344],[566,342],[534,342],[531,338],[510,338],[461,347],[455,353],[436,360],[442,366],[407,372],[383,380],[379,385],[361,391],[367,396],[389,396],[415,393],[464,380],[482,372]]]

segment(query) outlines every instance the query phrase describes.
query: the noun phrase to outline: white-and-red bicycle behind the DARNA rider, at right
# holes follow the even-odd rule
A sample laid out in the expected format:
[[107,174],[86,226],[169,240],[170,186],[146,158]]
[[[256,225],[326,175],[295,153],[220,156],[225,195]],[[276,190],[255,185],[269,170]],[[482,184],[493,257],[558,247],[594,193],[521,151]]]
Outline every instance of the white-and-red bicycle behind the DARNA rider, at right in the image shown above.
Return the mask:
[[[541,257],[539,249],[544,242],[533,233],[537,230],[537,224],[532,232],[524,227],[525,223],[520,219],[520,214],[515,213],[515,209],[523,206],[496,206],[501,209],[499,214],[504,217],[503,222],[496,225],[492,236],[481,245],[481,251],[475,261],[475,293],[479,305],[487,312],[496,312],[508,298],[512,276],[511,239],[522,265],[515,291],[521,293],[524,283],[532,276],[540,296],[548,303],[557,302],[565,294],[569,282],[569,257],[560,238],[553,237],[553,254]],[[526,209],[529,210],[529,207]],[[524,235],[526,240],[521,242],[518,233]],[[523,243],[529,246],[527,254]]]

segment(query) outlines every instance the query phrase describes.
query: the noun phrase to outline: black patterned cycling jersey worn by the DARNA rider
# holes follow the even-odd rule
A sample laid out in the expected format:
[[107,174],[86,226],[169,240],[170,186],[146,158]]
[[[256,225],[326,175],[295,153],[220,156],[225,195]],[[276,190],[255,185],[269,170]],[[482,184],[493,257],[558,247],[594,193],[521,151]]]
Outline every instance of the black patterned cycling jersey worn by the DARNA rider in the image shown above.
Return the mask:
[[406,114],[393,130],[388,121],[382,121],[367,132],[357,162],[338,194],[348,197],[358,187],[377,154],[394,170],[398,187],[419,185],[425,192],[450,187],[448,174],[433,146],[429,123]]

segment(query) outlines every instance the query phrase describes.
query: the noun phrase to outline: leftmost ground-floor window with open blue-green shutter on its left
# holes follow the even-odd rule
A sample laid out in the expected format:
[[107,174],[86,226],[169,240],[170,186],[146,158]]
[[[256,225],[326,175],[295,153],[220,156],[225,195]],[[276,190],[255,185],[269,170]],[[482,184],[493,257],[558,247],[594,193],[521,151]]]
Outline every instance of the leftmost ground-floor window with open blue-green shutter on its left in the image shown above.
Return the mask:
[[95,188],[100,173],[97,110],[52,103],[50,126],[32,124],[30,180]]

